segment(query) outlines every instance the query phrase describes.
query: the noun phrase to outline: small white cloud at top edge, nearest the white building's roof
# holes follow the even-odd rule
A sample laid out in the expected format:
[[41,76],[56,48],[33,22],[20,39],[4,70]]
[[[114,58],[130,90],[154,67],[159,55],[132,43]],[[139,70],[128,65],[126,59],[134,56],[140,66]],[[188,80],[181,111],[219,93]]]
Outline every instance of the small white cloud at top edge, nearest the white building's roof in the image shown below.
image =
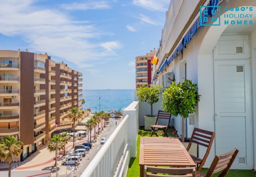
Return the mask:
[[133,0],[133,3],[152,11],[167,11],[170,0]]

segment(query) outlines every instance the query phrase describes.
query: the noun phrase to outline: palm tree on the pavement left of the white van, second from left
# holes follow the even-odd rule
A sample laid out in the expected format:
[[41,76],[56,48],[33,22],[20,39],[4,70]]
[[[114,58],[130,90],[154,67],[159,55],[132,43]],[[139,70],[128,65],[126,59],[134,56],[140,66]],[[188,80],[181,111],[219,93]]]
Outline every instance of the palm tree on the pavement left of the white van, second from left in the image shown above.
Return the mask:
[[[65,138],[62,138],[61,136],[59,135],[54,135],[52,136],[52,138],[50,139],[49,141],[49,144],[48,144],[48,147],[47,149],[50,151],[50,152],[54,152],[55,151],[55,166],[57,167],[57,155],[58,155],[58,151],[61,151],[61,149],[63,149],[63,145],[65,146],[63,140]],[[57,149],[57,151],[56,151]],[[57,168],[56,168],[57,170]]]

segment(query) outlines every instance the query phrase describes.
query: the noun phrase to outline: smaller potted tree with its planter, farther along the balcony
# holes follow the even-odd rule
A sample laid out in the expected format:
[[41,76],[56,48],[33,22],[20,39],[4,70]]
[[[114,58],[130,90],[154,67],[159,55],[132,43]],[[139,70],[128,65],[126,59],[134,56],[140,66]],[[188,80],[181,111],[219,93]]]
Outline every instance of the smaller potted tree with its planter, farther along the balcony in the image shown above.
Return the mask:
[[150,104],[151,108],[150,114],[144,116],[145,130],[150,129],[150,125],[154,125],[156,122],[156,116],[153,116],[153,104],[159,101],[159,94],[162,92],[162,86],[154,87],[154,85],[151,85],[151,87],[148,87],[147,85],[143,85],[142,87],[139,87],[139,90],[136,94],[139,101]]

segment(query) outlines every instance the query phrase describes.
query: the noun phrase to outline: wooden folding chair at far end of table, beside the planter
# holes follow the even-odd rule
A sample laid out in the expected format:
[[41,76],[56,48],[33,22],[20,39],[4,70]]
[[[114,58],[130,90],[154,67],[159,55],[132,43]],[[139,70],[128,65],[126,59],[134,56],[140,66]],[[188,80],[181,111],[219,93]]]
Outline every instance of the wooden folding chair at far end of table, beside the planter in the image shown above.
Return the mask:
[[[165,125],[157,125],[158,119],[168,119],[168,124],[167,124],[167,126],[165,126]],[[170,121],[171,121],[171,113],[169,113],[169,112],[163,112],[163,111],[159,110],[159,111],[158,111],[158,114],[157,114],[157,117],[156,117],[156,123],[155,123],[155,125],[151,125],[151,126],[150,126],[151,129],[152,129],[152,132],[151,132],[151,135],[150,135],[150,136],[152,136],[153,133],[155,133],[156,136],[158,136],[157,133],[161,133],[161,134],[163,134],[163,136],[167,136],[167,137],[168,137],[168,135],[167,135],[167,129],[168,129],[168,127],[169,127]],[[163,132],[155,131],[155,128],[163,129]]]

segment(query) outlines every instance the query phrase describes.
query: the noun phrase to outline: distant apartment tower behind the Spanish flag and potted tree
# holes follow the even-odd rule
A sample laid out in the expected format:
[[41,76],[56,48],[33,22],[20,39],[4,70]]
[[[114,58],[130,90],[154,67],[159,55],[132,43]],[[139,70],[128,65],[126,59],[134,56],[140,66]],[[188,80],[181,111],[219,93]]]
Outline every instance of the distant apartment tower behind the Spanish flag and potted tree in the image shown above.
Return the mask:
[[150,61],[156,53],[156,50],[150,50],[146,55],[135,57],[135,69],[136,69],[136,90],[142,85],[149,85],[151,83],[151,71],[153,70],[153,65],[150,64]]

